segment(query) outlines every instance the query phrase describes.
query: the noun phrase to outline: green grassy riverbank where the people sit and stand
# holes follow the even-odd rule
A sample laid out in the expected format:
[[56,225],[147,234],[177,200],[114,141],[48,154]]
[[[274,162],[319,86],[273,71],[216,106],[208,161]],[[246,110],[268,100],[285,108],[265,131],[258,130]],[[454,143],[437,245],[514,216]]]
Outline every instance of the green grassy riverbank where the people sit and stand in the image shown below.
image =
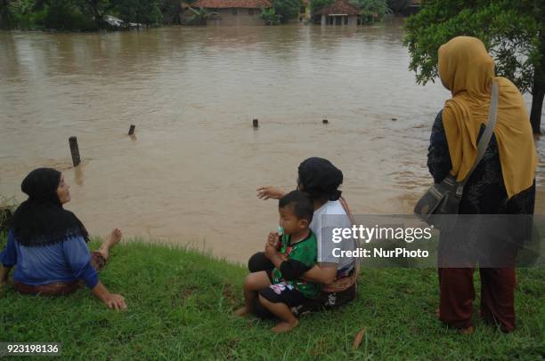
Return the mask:
[[[8,286],[0,291],[0,341],[58,341],[64,357],[92,359],[540,359],[545,353],[545,269],[518,271],[518,329],[508,335],[479,320],[471,336],[440,325],[434,269],[364,269],[354,303],[305,316],[292,333],[279,335],[269,331],[272,322],[231,316],[242,301],[243,267],[137,242],[119,245],[111,260],[102,281],[126,297],[126,311],[106,309],[88,290],[45,298]],[[362,328],[362,344],[353,350]]]

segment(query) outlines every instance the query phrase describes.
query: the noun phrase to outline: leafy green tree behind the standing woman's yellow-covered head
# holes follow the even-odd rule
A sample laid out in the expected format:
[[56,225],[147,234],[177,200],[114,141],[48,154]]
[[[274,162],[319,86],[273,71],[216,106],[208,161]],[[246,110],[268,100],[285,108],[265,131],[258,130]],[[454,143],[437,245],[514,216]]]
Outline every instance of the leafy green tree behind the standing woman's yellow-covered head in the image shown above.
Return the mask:
[[545,95],[545,2],[543,0],[428,0],[406,22],[404,44],[417,82],[437,76],[439,46],[454,36],[476,36],[496,61],[499,76],[533,95],[530,120],[541,132]]

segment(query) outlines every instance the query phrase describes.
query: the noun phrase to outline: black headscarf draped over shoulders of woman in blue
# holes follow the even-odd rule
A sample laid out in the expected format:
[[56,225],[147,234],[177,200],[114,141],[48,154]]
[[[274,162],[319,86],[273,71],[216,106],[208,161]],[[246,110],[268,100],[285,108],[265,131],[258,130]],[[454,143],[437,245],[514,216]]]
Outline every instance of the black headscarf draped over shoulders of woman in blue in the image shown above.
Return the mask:
[[61,172],[52,168],[38,168],[29,172],[20,184],[28,195],[11,221],[15,241],[26,246],[53,245],[66,237],[81,236],[88,240],[84,225],[62,208],[57,196]]

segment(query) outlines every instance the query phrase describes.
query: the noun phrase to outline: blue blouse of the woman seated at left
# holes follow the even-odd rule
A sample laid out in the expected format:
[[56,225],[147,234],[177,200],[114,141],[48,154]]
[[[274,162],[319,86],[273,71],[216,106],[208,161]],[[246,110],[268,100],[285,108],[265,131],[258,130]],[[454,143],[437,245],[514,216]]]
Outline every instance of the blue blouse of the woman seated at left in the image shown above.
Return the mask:
[[0,263],[11,268],[13,279],[25,285],[46,285],[55,282],[85,281],[89,288],[99,281],[99,274],[91,265],[91,253],[83,237],[67,237],[54,245],[26,247],[15,242],[13,232],[0,253]]

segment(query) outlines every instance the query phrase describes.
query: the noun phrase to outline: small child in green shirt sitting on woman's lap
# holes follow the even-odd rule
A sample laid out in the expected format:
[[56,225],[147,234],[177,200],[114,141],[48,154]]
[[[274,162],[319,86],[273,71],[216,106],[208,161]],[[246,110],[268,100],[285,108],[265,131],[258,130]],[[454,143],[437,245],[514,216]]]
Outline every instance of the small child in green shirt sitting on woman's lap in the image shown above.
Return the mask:
[[235,311],[235,315],[252,312],[254,302],[259,301],[281,319],[281,323],[273,327],[274,332],[287,332],[297,325],[290,308],[316,298],[321,288],[301,278],[316,263],[316,237],[308,227],[313,221],[313,212],[313,201],[304,192],[294,190],[281,198],[279,213],[283,234],[270,233],[265,245],[265,255],[275,268],[246,277],[245,306]]

